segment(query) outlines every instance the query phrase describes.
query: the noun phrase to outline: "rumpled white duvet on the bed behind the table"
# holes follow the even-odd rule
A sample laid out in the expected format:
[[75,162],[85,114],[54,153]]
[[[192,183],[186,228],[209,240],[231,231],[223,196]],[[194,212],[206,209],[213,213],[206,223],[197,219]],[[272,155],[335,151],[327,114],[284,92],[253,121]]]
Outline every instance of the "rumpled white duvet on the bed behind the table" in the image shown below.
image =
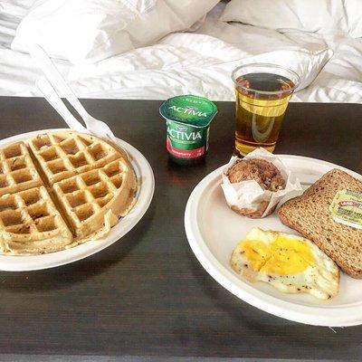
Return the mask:
[[[30,56],[10,49],[29,1],[0,3],[0,95],[36,96],[41,71]],[[167,99],[193,93],[233,100],[230,73],[243,62],[272,62],[302,79],[294,101],[362,101],[362,39],[323,36],[218,20],[224,4],[195,33],[172,33],[157,44],[88,65],[57,61],[81,98]]]

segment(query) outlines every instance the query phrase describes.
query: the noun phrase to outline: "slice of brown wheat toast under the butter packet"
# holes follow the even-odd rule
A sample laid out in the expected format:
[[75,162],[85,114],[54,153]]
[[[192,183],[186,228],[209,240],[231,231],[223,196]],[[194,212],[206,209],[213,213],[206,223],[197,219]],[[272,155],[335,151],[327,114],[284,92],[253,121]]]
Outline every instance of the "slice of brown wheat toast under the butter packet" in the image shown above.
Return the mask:
[[353,278],[362,278],[362,230],[336,222],[329,205],[340,190],[362,193],[362,182],[337,168],[329,171],[303,195],[281,205],[281,223],[316,243]]

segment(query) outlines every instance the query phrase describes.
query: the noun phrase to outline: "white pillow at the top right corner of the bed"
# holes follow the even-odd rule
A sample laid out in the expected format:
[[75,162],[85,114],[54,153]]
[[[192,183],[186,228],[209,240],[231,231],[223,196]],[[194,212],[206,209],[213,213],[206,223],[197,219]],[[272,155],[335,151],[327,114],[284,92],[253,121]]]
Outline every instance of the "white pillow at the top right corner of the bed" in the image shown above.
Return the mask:
[[232,0],[221,20],[283,31],[362,36],[361,0]]

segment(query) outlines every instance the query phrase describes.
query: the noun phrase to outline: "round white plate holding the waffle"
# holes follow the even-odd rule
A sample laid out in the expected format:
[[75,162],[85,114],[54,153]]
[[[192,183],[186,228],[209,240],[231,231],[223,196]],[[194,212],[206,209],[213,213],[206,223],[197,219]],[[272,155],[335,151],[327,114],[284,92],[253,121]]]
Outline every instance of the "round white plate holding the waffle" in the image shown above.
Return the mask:
[[[25,140],[36,136],[39,133],[69,130],[69,129],[43,129],[35,132],[23,133],[0,141],[0,148],[8,143]],[[100,252],[110,244],[117,242],[122,236],[138,223],[146,213],[155,189],[155,178],[148,160],[129,143],[119,139],[119,146],[129,154],[129,161],[135,170],[139,189],[137,203],[130,210],[129,214],[119,220],[119,224],[111,228],[110,233],[99,240],[90,241],[62,252],[51,252],[43,255],[32,256],[5,256],[0,255],[1,271],[35,271],[39,269],[53,268],[55,266],[76,262],[87,256]]]

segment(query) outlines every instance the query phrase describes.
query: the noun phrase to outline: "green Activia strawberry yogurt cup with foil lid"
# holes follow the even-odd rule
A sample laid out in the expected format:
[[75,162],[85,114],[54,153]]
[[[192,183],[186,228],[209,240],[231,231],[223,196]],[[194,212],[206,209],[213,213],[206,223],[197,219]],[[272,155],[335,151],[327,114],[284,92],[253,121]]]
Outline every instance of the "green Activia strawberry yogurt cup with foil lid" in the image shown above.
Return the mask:
[[159,108],[166,119],[166,147],[181,165],[192,165],[205,157],[209,147],[210,122],[217,113],[211,100],[191,94],[166,100]]

